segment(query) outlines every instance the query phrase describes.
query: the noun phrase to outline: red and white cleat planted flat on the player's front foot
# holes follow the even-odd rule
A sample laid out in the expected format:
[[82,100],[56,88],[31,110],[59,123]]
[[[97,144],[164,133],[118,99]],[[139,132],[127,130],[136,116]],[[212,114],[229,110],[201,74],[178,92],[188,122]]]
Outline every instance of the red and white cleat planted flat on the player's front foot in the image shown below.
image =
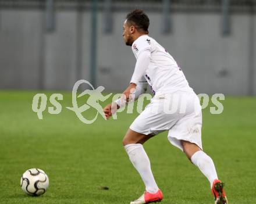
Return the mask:
[[140,198],[130,202],[130,204],[145,204],[145,203],[152,203],[152,202],[160,202],[162,201],[162,199],[163,199],[163,194],[160,189],[155,194],[151,194],[150,192],[145,191],[144,194],[140,196]]

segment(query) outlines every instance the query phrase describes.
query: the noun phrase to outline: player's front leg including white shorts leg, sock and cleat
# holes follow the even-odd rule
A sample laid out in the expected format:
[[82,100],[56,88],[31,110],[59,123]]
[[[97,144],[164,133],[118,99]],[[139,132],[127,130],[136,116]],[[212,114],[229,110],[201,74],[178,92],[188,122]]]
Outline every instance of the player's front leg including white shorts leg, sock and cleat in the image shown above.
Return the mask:
[[179,119],[176,117],[177,114],[170,115],[163,112],[163,102],[163,98],[153,98],[151,103],[133,121],[123,139],[123,145],[131,163],[140,173],[146,187],[145,193],[131,204],[161,201],[163,198],[152,175],[150,160],[142,145],[154,135],[169,130]]

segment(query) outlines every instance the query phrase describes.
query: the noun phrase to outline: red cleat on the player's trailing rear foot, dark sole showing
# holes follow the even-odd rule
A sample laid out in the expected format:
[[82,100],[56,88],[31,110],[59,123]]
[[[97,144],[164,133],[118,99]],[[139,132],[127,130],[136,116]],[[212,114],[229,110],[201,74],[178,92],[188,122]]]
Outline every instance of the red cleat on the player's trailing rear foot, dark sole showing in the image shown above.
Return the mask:
[[223,182],[217,179],[214,180],[214,184],[212,184],[212,194],[214,194],[215,204],[227,204],[227,196],[223,187]]

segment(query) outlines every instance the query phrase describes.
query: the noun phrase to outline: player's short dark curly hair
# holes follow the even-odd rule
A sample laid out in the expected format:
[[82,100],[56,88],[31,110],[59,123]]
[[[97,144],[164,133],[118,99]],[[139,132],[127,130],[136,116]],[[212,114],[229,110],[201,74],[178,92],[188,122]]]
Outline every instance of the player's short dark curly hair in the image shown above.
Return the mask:
[[141,9],[135,9],[127,14],[127,23],[133,25],[137,30],[143,30],[148,33],[148,27],[150,26],[150,19]]

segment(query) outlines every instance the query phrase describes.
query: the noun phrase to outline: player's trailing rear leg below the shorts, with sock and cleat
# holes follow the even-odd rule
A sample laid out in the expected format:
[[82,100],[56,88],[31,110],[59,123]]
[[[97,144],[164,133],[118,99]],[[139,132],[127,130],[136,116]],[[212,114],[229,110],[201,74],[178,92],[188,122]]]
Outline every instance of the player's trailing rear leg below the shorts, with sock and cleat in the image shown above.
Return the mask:
[[223,183],[218,179],[212,159],[196,144],[184,140],[182,140],[181,143],[187,158],[189,158],[189,160],[195,164],[195,166],[197,166],[202,174],[204,174],[204,176],[209,180],[212,188],[212,194],[214,194],[215,197],[215,203],[227,203],[226,194],[223,190]]

